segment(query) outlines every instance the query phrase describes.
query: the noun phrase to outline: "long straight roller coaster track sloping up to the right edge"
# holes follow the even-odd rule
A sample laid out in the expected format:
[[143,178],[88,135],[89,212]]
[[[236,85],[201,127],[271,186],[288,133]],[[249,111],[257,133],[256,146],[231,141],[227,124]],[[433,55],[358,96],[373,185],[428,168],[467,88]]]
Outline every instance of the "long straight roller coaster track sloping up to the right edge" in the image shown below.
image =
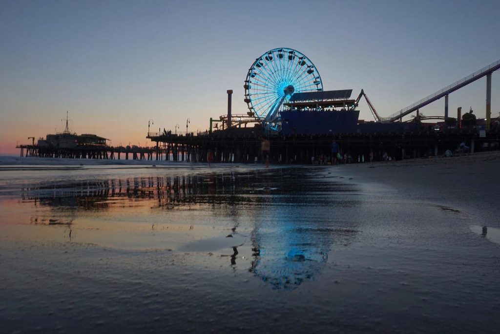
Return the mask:
[[443,97],[443,96],[446,96],[448,95],[449,93],[457,90],[457,89],[460,89],[461,87],[463,86],[466,86],[467,84],[471,83],[471,82],[474,82],[475,80],[477,79],[480,79],[481,77],[497,70],[500,68],[500,60],[497,60],[481,69],[479,69],[478,71],[475,71],[474,73],[470,74],[470,75],[467,75],[465,76],[464,78],[450,84],[449,86],[447,87],[444,87],[438,91],[436,91],[435,93],[433,94],[430,94],[428,95],[427,97],[424,97],[422,98],[421,100],[411,104],[411,105],[408,105],[407,107],[397,111],[397,112],[394,112],[393,114],[389,115],[388,117],[383,117],[381,118],[382,121],[384,122],[393,122],[393,121],[396,121],[396,120],[399,120],[401,119],[402,117],[406,116],[407,114],[435,101],[435,100],[438,100],[439,98]]

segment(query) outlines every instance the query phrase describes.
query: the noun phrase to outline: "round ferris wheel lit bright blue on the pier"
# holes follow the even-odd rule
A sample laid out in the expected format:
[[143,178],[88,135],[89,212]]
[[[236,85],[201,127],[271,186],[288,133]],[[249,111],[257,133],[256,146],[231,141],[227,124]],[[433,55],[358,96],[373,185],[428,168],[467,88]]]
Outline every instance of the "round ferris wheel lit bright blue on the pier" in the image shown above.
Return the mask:
[[291,48],[274,48],[255,59],[244,84],[250,111],[267,122],[273,122],[293,93],[321,91],[321,76],[314,64]]

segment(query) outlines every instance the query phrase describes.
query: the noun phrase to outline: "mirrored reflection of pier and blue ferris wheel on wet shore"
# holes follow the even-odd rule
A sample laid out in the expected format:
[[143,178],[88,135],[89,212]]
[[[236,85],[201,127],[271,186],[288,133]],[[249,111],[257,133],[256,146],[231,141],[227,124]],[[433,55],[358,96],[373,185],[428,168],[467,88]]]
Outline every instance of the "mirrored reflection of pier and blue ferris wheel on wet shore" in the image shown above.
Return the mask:
[[[220,256],[228,257],[234,270],[239,265],[273,288],[292,289],[321,270],[333,244],[345,246],[354,240],[357,230],[339,219],[342,208],[356,205],[352,196],[345,196],[355,191],[355,185],[324,182],[310,171],[290,168],[44,183],[23,188],[20,203],[47,207],[49,217],[31,216],[31,224],[65,225],[64,235],[69,240],[82,217],[111,213],[117,220],[120,215],[133,217],[144,212],[152,220],[147,229],[159,238],[161,247],[210,254],[218,250]],[[310,193],[314,198],[308,196]],[[318,210],[320,206],[335,207],[336,215]],[[200,215],[189,220],[178,213],[186,209]],[[178,246],[167,238],[174,229],[171,221],[165,222],[170,219],[185,226],[187,234],[177,236],[176,241],[185,240]],[[92,223],[102,237],[102,222]],[[209,226],[215,231],[210,232]],[[224,233],[225,228],[229,234]],[[151,242],[150,238],[131,242],[133,236],[120,237],[126,238],[123,244],[135,246],[142,242],[147,247]],[[99,240],[96,236],[89,241]]]

